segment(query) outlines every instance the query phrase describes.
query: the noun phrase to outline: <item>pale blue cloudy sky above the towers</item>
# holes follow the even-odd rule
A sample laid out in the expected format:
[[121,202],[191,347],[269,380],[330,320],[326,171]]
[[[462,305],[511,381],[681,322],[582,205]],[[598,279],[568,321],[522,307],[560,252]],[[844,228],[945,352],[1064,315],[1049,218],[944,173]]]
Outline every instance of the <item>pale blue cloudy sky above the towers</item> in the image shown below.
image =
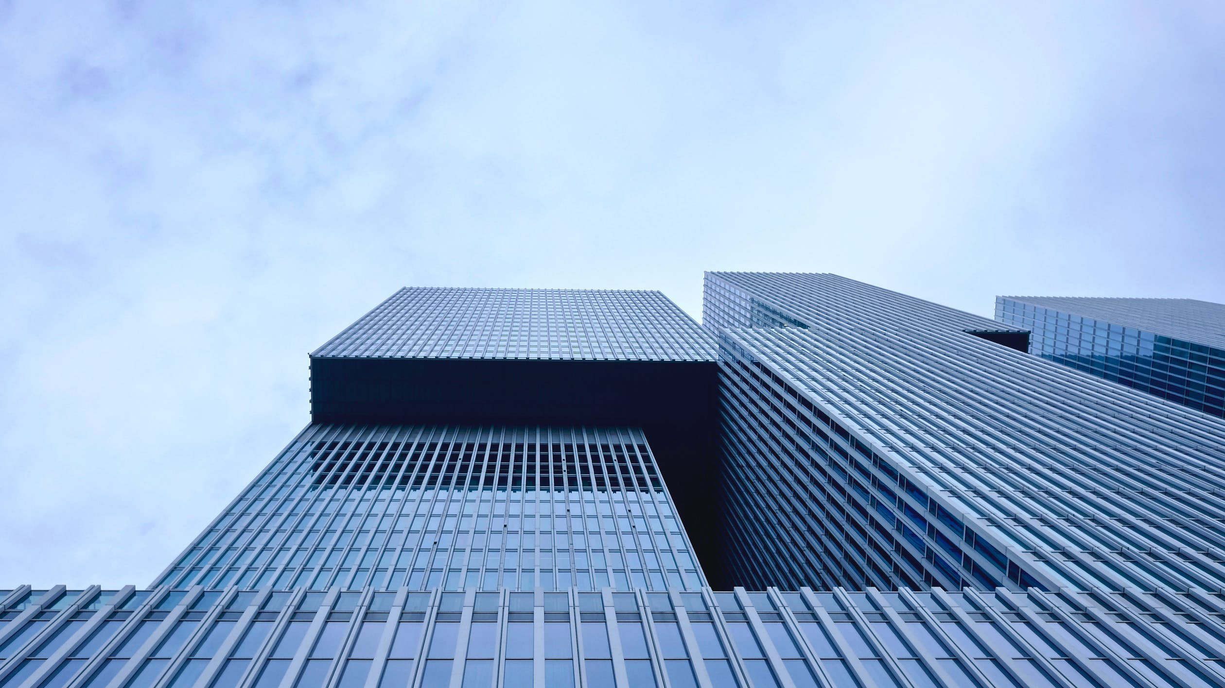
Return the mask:
[[0,589],[147,585],[403,285],[1225,302],[1225,4],[0,1]]

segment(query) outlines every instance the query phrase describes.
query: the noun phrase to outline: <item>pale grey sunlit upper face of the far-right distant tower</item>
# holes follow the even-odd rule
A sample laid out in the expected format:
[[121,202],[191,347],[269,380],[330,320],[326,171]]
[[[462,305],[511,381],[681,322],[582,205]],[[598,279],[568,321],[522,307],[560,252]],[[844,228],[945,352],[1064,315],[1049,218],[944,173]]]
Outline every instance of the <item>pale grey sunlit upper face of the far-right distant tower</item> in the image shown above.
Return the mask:
[[1225,350],[1225,304],[1196,299],[997,296]]

